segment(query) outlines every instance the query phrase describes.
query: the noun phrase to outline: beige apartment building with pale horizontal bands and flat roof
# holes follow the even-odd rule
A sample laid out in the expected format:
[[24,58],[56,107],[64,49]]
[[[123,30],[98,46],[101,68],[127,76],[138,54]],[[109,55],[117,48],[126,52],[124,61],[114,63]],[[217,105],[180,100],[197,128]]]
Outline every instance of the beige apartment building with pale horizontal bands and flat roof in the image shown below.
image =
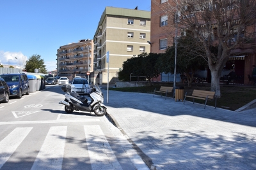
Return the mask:
[[150,41],[150,11],[106,7],[93,38],[95,81],[108,83],[109,72],[109,83],[115,83],[124,61],[150,52],[147,41]]

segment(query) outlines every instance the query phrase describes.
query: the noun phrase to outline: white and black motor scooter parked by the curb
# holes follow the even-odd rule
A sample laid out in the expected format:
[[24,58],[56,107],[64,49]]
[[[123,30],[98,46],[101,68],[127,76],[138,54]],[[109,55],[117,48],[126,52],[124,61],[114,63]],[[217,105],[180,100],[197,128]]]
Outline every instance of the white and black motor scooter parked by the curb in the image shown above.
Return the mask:
[[103,104],[104,98],[99,86],[95,84],[90,94],[88,95],[91,101],[88,101],[86,97],[79,96],[77,93],[67,92],[67,85],[61,87],[65,94],[65,100],[60,101],[60,104],[65,105],[65,111],[72,113],[74,110],[94,112],[95,115],[102,117],[106,115],[107,108]]

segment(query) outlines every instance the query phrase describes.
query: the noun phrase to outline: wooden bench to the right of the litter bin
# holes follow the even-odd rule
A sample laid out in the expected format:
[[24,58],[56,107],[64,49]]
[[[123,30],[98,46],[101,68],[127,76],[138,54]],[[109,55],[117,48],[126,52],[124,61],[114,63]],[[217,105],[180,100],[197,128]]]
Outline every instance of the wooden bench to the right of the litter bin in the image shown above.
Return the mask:
[[193,90],[193,93],[191,96],[187,96],[187,93],[185,94],[184,104],[186,101],[186,97],[193,98],[193,103],[195,103],[195,99],[205,100],[204,108],[206,106],[207,100],[214,99],[214,97],[215,97],[215,108],[216,108],[217,97],[215,96],[215,92],[210,92],[210,91],[205,91],[205,90]]

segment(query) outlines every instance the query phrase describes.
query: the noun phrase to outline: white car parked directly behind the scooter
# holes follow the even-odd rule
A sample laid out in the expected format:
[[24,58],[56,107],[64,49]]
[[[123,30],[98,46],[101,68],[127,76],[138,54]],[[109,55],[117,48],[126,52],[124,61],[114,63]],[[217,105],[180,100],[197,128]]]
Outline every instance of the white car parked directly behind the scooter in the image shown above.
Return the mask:
[[91,92],[91,90],[92,89],[90,88],[86,78],[74,78],[70,85],[70,91],[72,93],[76,92],[81,96],[88,95]]

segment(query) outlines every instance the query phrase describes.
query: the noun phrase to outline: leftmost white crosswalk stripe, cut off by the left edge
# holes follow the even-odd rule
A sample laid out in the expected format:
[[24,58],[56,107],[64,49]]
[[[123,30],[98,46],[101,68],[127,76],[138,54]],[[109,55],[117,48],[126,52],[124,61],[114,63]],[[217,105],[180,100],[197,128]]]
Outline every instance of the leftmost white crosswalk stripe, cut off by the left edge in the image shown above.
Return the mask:
[[0,141],[0,168],[15,152],[33,127],[17,127]]

